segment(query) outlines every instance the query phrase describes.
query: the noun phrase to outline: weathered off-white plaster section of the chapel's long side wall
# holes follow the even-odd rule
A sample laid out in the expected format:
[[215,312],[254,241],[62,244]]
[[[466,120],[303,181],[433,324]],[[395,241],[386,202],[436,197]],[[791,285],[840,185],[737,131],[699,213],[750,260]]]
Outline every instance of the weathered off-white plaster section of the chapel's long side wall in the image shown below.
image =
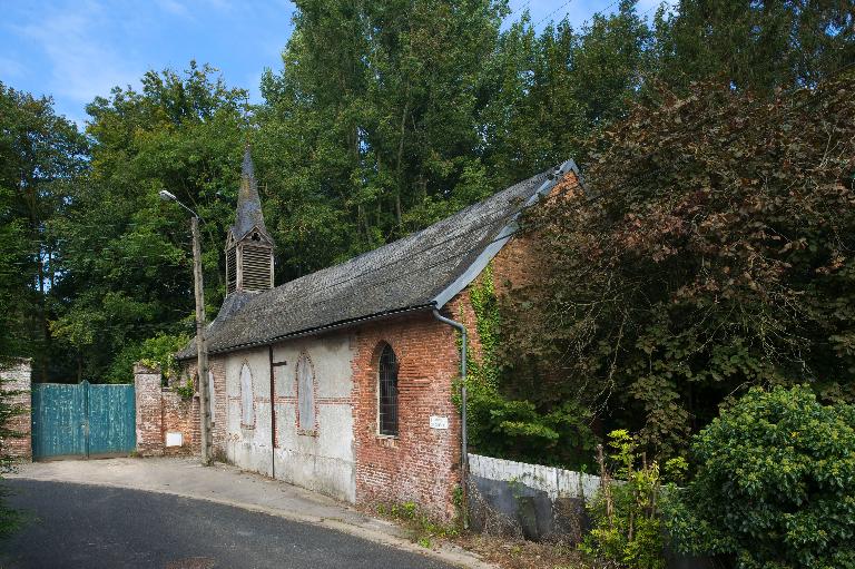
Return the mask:
[[[298,432],[296,363],[305,351],[315,374],[317,429]],[[346,333],[299,339],[274,346],[276,443],[271,440],[269,353],[262,347],[226,356],[228,393],[226,454],[240,468],[355,502],[353,449],[353,350]],[[240,424],[240,369],[249,365],[255,391],[255,428]],[[283,400],[285,398],[285,400]],[[288,399],[289,398],[289,399]]]

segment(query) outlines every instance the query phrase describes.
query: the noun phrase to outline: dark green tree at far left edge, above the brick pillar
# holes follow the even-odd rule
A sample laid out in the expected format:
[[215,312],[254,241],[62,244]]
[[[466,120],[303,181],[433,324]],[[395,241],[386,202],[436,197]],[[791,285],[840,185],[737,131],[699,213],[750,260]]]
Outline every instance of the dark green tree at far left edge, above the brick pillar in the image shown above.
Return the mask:
[[48,324],[56,312],[60,246],[50,224],[86,167],[86,141],[55,114],[50,98],[3,84],[0,125],[0,355],[35,357],[35,377],[46,381],[61,367]]

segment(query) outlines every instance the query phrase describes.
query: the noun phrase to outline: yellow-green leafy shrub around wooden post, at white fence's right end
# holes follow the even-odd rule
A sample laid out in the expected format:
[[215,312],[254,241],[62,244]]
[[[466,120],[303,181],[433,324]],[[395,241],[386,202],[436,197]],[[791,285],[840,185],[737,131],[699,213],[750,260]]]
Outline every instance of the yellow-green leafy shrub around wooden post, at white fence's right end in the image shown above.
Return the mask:
[[[664,569],[666,561],[659,512],[664,488],[659,465],[655,461],[647,462],[627,431],[610,432],[609,447],[613,451],[609,455],[611,472],[599,448],[603,484],[588,504],[593,529],[581,549],[607,561],[609,567]],[[685,467],[682,459],[672,459],[667,464],[667,469],[675,472],[682,472]]]

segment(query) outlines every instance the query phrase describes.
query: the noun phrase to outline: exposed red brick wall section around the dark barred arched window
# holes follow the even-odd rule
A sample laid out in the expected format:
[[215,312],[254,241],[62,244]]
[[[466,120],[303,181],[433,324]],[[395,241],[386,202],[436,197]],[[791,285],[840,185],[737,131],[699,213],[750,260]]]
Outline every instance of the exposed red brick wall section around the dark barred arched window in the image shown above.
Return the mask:
[[[382,321],[355,331],[353,360],[356,500],[414,501],[442,519],[454,514],[460,482],[460,416],[452,403],[460,353],[454,330],[431,314]],[[399,435],[377,434],[377,366],[384,343],[399,361]],[[449,429],[431,429],[431,415]]]

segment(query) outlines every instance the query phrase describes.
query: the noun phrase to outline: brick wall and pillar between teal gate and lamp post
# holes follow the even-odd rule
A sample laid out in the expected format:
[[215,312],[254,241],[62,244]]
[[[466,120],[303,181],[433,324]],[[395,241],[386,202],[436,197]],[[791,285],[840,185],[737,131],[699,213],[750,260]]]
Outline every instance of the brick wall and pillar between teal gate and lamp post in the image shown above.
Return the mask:
[[[137,409],[137,452],[142,457],[199,452],[199,398],[187,401],[173,387],[163,387],[160,370],[134,366]],[[181,433],[180,447],[167,447],[166,434]]]

